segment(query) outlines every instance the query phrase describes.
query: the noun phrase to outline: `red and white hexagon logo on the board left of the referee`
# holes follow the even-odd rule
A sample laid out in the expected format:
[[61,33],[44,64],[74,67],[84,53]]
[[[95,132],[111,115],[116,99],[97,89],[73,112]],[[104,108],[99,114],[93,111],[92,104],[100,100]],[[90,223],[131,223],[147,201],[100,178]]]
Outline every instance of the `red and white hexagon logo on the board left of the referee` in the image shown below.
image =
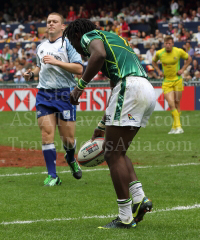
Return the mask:
[[12,111],[32,111],[36,98],[31,90],[14,90],[6,103]]

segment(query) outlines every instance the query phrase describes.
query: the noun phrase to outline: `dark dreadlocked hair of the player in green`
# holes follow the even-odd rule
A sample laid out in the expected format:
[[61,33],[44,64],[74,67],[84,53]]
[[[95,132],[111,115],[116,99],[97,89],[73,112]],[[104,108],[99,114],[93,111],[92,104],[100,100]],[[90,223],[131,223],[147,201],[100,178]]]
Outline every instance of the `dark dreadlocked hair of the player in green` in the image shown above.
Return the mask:
[[76,38],[76,33],[83,36],[85,33],[90,32],[96,29],[96,25],[87,19],[76,19],[71,22],[64,30],[62,35],[62,43],[65,40],[65,37],[73,44],[73,40]]

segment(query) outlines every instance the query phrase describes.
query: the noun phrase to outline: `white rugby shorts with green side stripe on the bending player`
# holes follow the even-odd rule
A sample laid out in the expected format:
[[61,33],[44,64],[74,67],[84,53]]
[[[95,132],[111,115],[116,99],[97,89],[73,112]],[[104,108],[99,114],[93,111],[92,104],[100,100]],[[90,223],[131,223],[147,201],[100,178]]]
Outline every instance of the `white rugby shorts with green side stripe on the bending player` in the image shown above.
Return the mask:
[[106,108],[106,126],[145,127],[156,104],[155,91],[143,77],[129,76],[113,89]]

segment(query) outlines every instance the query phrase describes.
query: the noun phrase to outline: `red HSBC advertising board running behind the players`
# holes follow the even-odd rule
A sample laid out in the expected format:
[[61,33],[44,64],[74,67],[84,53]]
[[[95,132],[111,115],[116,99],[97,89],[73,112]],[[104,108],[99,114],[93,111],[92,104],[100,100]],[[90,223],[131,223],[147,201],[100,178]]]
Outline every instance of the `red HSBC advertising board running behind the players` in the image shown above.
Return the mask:
[[[0,111],[35,111],[38,89],[0,89]],[[156,111],[169,110],[161,87],[155,87]],[[77,111],[104,111],[111,90],[109,87],[86,88],[80,98]],[[181,110],[195,109],[195,87],[185,87]]]

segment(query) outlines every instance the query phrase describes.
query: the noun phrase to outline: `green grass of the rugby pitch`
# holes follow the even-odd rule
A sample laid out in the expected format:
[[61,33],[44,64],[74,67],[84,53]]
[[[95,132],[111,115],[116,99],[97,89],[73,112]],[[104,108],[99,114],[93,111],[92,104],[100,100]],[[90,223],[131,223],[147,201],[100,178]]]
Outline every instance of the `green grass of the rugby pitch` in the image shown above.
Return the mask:
[[[78,112],[78,146],[92,136],[98,122],[96,119],[101,115],[98,112]],[[28,120],[27,116],[31,118]],[[42,185],[46,177],[41,174],[45,171],[43,167],[0,168],[0,239],[199,239],[200,208],[174,211],[172,208],[200,204],[200,112],[182,113],[185,133],[181,135],[167,134],[170,130],[168,116],[169,112],[155,112],[149,126],[140,130],[128,152],[133,162],[140,164],[136,165],[136,173],[154,204],[154,211],[146,214],[136,229],[97,229],[113,219],[108,215],[118,213],[116,195],[106,166],[96,167],[103,168],[102,171],[83,172],[79,181],[68,172],[62,173],[69,170],[68,167],[58,167],[63,184],[53,188]],[[38,149],[41,149],[40,132],[34,119],[35,113],[2,112],[0,145],[12,146],[8,137],[17,137],[15,147],[21,147],[22,142],[27,141],[23,147],[29,148],[36,141]],[[26,126],[31,121],[32,124]],[[55,141],[57,149],[63,151],[58,133]],[[178,163],[197,165],[170,166]],[[139,168],[141,166],[147,168]],[[35,174],[1,176],[30,172]],[[164,209],[169,211],[161,211]],[[60,221],[52,221],[55,218]],[[43,221],[2,224],[29,220]]]

